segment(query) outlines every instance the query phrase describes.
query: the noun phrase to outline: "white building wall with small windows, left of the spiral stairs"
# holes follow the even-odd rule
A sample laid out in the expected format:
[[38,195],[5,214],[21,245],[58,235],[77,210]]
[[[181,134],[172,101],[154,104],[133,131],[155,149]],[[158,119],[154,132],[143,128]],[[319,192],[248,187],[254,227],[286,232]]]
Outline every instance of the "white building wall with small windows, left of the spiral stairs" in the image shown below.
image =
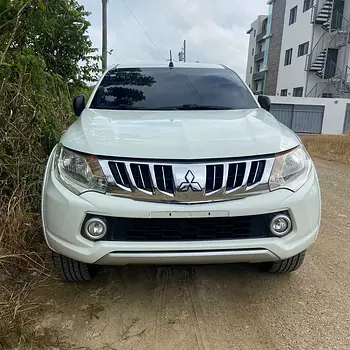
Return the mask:
[[[311,9],[303,12],[304,0],[288,0],[284,14],[283,39],[281,47],[281,56],[279,61],[279,75],[277,82],[277,93],[280,94],[282,89],[288,89],[288,95],[293,95],[293,89],[303,87],[305,90],[306,55],[298,57],[298,47],[300,44],[309,42],[309,52],[311,50],[312,24]],[[298,6],[296,22],[289,25],[290,10]],[[286,50],[293,49],[292,64],[285,66],[284,59]]]

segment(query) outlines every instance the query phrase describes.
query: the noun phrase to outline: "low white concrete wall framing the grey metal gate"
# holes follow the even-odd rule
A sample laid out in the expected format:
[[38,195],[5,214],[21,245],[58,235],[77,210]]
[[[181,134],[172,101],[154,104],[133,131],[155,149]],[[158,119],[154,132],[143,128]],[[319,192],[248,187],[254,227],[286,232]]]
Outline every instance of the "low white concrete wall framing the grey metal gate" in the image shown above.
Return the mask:
[[350,99],[270,96],[272,103],[324,106],[322,134],[342,134]]

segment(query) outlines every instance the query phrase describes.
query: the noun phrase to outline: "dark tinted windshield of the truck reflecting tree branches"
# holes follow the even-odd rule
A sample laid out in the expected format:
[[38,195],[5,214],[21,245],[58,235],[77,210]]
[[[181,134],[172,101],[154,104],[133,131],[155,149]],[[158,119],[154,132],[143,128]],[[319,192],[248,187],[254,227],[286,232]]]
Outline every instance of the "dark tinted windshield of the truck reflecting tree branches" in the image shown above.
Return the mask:
[[220,68],[114,68],[90,108],[249,109],[257,104],[236,73]]

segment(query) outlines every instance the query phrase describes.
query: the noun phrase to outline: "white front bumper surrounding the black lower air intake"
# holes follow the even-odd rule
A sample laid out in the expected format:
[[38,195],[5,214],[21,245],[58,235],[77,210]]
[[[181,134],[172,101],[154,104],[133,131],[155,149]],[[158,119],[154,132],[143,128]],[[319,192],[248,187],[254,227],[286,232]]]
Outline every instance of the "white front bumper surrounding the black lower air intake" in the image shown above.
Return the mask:
[[[286,259],[310,246],[320,224],[320,190],[313,170],[293,193],[278,190],[226,202],[181,205],[134,201],[94,192],[77,196],[55,178],[49,162],[42,195],[48,246],[72,259],[96,264],[263,262]],[[81,235],[86,214],[131,218],[248,216],[287,210],[293,231],[283,238],[177,242],[92,242]]]

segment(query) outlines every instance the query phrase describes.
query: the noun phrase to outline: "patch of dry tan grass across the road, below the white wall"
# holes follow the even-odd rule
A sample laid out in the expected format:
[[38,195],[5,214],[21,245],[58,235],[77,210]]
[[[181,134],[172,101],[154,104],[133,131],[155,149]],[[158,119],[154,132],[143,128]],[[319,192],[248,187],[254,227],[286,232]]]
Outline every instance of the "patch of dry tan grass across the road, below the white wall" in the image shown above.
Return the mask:
[[346,135],[302,136],[312,157],[350,165],[350,131]]

